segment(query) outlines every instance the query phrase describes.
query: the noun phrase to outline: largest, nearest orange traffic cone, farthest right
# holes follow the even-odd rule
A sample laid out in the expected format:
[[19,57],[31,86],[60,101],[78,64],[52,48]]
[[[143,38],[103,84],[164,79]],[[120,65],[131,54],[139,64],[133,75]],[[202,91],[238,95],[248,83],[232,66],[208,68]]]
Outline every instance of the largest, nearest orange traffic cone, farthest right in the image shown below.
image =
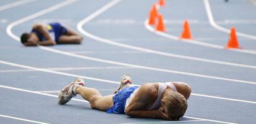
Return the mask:
[[225,48],[242,48],[239,47],[237,36],[236,36],[236,28],[231,28],[230,38],[228,41],[228,45]]

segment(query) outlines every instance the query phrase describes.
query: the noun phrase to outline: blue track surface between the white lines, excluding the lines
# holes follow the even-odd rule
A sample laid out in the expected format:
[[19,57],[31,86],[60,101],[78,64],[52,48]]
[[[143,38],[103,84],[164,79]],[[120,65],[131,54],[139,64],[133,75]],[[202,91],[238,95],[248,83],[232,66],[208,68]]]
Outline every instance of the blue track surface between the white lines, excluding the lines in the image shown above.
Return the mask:
[[[1,6],[14,1],[1,2]],[[24,64],[36,68],[94,68],[61,71],[80,76],[95,77],[99,79],[119,81],[122,74],[131,74],[135,84],[142,85],[145,82],[187,82],[192,87],[193,93],[220,96],[224,98],[242,99],[256,101],[254,84],[230,82],[224,80],[207,79],[203,77],[186,76],[146,69],[119,68],[106,69],[108,67],[120,67],[120,65],[101,63],[97,61],[74,58],[72,56],[60,55],[37,47],[23,47],[20,42],[15,41],[6,34],[7,25],[15,20],[34,14],[40,10],[54,6],[62,1],[35,1],[12,9],[0,12],[0,19],[7,19],[6,23],[0,22],[0,60],[11,63]],[[38,21],[62,21],[72,29],[76,29],[77,23],[92,14],[109,1],[78,1],[69,6],[49,12],[46,15],[26,21],[15,26],[12,31],[20,36],[24,31],[30,31],[33,23]],[[211,60],[227,61],[232,63],[249,64],[256,66],[256,56],[245,53],[231,52],[229,50],[218,50],[188,44],[186,42],[174,41],[158,36],[148,31],[143,22],[148,17],[152,4],[151,1],[121,1],[119,4],[106,10],[93,20],[83,25],[83,29],[98,37],[103,37],[122,44],[158,50],[166,53],[207,58]],[[224,20],[255,20],[256,7],[249,1],[210,1],[211,10],[216,21]],[[233,9],[236,8],[236,9]],[[233,10],[234,13],[231,12]],[[208,42],[210,44],[226,45],[229,34],[223,33],[211,27],[208,23],[207,14],[203,1],[166,1],[166,6],[160,9],[166,20],[197,20],[191,23],[190,28],[195,40]],[[246,12],[246,13],[245,13]],[[12,15],[12,16],[11,16]],[[15,16],[13,16],[15,15]],[[111,20],[111,23],[107,23]],[[124,23],[130,20],[130,23]],[[119,22],[119,23],[118,23]],[[255,23],[236,25],[221,25],[225,28],[236,26],[242,33],[256,35]],[[180,36],[182,23],[166,24],[166,33]],[[91,56],[122,63],[137,64],[160,69],[190,72],[208,76],[226,77],[247,81],[256,81],[256,70],[234,66],[224,66],[213,63],[184,60],[168,56],[160,56],[151,53],[138,52],[127,48],[117,47],[83,37],[80,45],[56,45],[55,48],[65,52],[77,53],[79,55]],[[239,43],[245,49],[256,50],[256,42],[252,39],[238,37]],[[71,82],[74,77],[61,76],[48,72],[17,71],[23,70],[0,64],[0,85],[23,88],[32,91],[55,91]],[[101,91],[103,95],[113,93],[119,85],[114,83],[85,80],[85,85]],[[139,122],[161,122],[164,120],[129,118],[126,115],[106,114],[99,110],[90,109],[88,103],[70,101],[65,106],[59,106],[57,99],[50,96],[35,95],[23,91],[0,88],[1,102],[0,114],[13,117],[26,118],[46,123],[139,123]],[[58,95],[57,93],[53,93]],[[78,99],[82,99],[80,96]],[[191,96],[189,109],[186,116],[208,118],[234,123],[255,123],[255,104],[226,101],[223,99],[203,98]],[[96,116],[96,117],[92,117]],[[182,120],[191,120],[182,118]],[[17,120],[0,117],[0,122],[23,123]],[[213,123],[213,122],[187,122],[187,123]]]

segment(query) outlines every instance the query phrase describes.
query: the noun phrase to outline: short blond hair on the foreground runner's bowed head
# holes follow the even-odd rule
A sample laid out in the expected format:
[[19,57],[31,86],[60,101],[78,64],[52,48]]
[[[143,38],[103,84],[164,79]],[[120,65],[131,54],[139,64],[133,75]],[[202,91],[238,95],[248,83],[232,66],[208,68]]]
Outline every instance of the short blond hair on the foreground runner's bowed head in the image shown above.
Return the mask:
[[168,115],[171,120],[179,120],[187,110],[187,99],[177,91],[171,91],[164,99]]

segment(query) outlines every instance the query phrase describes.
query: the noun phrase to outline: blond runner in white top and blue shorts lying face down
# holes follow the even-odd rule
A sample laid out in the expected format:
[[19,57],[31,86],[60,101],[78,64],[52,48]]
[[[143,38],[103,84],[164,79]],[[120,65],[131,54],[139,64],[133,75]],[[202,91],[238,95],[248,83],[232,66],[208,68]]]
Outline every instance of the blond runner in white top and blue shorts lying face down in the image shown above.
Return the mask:
[[92,109],[130,117],[179,120],[187,110],[190,86],[184,82],[145,83],[132,85],[130,76],[121,77],[121,85],[114,95],[102,96],[95,88],[84,87],[83,79],[76,79],[59,93],[59,104],[66,104],[79,94],[90,102]]

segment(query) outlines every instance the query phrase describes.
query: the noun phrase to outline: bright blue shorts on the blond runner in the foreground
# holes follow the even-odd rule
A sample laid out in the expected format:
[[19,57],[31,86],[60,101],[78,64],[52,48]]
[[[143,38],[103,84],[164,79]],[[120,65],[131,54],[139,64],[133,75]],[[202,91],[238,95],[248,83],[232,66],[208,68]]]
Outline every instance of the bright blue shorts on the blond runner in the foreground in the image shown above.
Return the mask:
[[137,86],[135,87],[126,87],[122,90],[119,90],[116,95],[113,96],[113,103],[114,105],[110,107],[106,112],[107,113],[116,113],[116,114],[124,114],[124,107],[126,106],[126,99],[130,97],[134,90],[136,90]]

